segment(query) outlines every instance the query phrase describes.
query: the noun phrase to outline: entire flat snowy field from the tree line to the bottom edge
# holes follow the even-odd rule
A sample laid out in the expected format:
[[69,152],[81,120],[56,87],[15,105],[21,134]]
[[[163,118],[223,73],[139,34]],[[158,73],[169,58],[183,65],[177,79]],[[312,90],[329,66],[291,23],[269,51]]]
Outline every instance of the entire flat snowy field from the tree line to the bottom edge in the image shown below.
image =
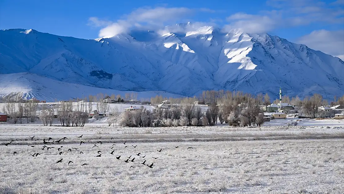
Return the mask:
[[344,130],[337,121],[251,128],[0,124],[0,193],[341,193]]

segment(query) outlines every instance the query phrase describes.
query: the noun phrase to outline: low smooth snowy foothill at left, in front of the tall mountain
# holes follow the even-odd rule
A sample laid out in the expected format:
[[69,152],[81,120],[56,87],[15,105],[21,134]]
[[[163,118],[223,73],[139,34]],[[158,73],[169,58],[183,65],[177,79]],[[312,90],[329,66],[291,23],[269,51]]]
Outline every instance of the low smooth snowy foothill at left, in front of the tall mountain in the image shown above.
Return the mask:
[[[0,76],[1,88],[0,95],[7,95],[11,92],[23,92],[26,99],[35,97],[38,100],[46,100],[47,102],[54,102],[57,100],[69,100],[72,98],[84,98],[88,95],[96,95],[99,93],[111,95],[120,94],[125,96],[126,93],[132,91],[118,91],[112,89],[95,88],[75,83],[61,82],[49,79],[40,75],[32,73],[11,73],[1,74]],[[156,95],[162,95],[169,98],[183,97],[178,94],[172,94],[162,91],[146,91],[137,92],[138,99],[149,99]]]

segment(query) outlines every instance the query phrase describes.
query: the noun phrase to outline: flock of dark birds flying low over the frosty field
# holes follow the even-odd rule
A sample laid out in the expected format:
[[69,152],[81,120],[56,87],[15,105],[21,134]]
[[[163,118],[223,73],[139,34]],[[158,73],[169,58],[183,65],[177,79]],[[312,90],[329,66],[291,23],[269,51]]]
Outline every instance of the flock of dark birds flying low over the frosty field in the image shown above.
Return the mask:
[[[30,137],[30,136],[29,136]],[[34,137],[35,136],[32,136],[32,137],[30,137],[31,138],[31,140],[34,140]],[[77,139],[79,139],[80,140],[80,145],[81,144],[85,144],[85,142],[84,141],[87,141],[87,142],[91,142],[91,140],[85,140],[85,139],[81,139],[83,137],[83,135],[80,135],[79,137],[77,137]],[[101,137],[97,137],[98,139],[101,139]],[[52,142],[50,142],[50,140],[52,140],[52,138],[51,137],[49,137],[49,139],[48,139],[48,141],[45,141],[45,139],[43,139],[43,144],[46,144],[46,145],[43,145],[40,149],[41,150],[47,150],[47,151],[49,151],[50,149],[52,150],[52,149],[54,149],[55,148],[55,146],[47,146],[47,145],[52,145],[52,144],[54,144],[54,145],[56,145],[55,143],[60,143],[61,141],[65,141],[66,139],[68,139],[67,137],[63,137],[62,139],[60,139],[60,140],[56,140],[56,141],[52,141]],[[111,140],[113,140],[114,138],[112,137],[111,138]],[[83,141],[84,140],[84,141]],[[8,145],[10,145],[11,143],[13,142],[13,140],[11,140],[9,143],[6,143],[5,144],[5,146],[8,146]],[[91,142],[92,143],[92,142]],[[125,148],[127,148],[128,147],[128,145],[126,144],[127,142],[125,141],[125,142],[123,142],[123,144],[125,145]],[[100,145],[102,145],[103,143],[101,142],[101,141],[97,141],[97,143],[92,143],[93,144],[93,147],[92,148],[94,148],[94,147],[99,147]],[[112,150],[112,149],[114,149],[114,146],[115,146],[116,144],[112,144],[111,145],[111,147],[110,147],[110,151],[111,152],[109,152],[109,154],[111,154],[111,155],[114,155],[114,152],[115,152],[115,150]],[[36,145],[28,145],[28,146],[30,146],[30,147],[35,147]],[[134,148],[136,148],[137,147],[137,145],[131,145],[132,147],[134,147]],[[175,146],[175,148],[176,149],[178,149],[179,148],[179,146]],[[59,146],[58,148],[57,148],[57,151],[58,151],[58,154],[59,155],[62,155],[63,153],[65,153],[64,152],[64,150],[62,150],[62,149],[65,149],[62,145],[61,146]],[[74,147],[71,147],[71,148],[69,148],[66,152],[72,152],[72,149],[73,150],[78,150],[79,148],[74,148]],[[187,148],[187,150],[189,150],[189,149],[193,149],[192,147],[188,147]],[[161,153],[162,152],[162,149],[160,149],[160,150],[157,150],[159,153]],[[13,155],[15,155],[15,154],[18,154],[17,152],[13,152]],[[80,153],[79,154],[84,154],[82,151],[80,151]],[[97,151],[97,155],[96,156],[94,156],[94,157],[101,157],[101,155],[102,155],[103,153],[101,152],[101,151]],[[31,154],[30,153],[30,155],[32,156],[32,157],[37,157],[38,155],[41,155],[40,153],[33,153],[33,154]],[[141,162],[141,163],[139,163],[139,164],[142,164],[142,165],[147,165],[148,167],[150,167],[150,168],[153,168],[153,164],[154,163],[151,163],[150,165],[148,165],[148,164],[146,164],[146,162],[147,162],[147,160],[146,160],[146,155],[144,155],[144,156],[142,156],[141,155],[141,152],[139,152],[139,153],[137,153],[136,154],[138,157],[140,157],[140,158],[142,158],[144,161],[143,162]],[[126,160],[124,160],[124,162],[126,162],[126,163],[130,163],[130,162],[135,162],[135,157],[131,157],[132,155],[130,155],[129,157],[128,156],[126,156],[127,157],[127,159]],[[119,156],[115,156],[115,158],[117,159],[117,160],[121,160],[121,155],[119,155]],[[153,159],[158,159],[159,157],[152,157]],[[58,160],[58,161],[56,161],[55,163],[62,163],[62,161],[63,161],[63,158],[62,159],[60,159],[60,160]],[[73,161],[68,161],[68,165],[69,164],[74,164],[74,162]],[[84,166],[84,165],[88,165],[88,163],[84,163],[84,164],[82,164],[81,166]],[[134,168],[134,166],[130,166],[130,168]]]

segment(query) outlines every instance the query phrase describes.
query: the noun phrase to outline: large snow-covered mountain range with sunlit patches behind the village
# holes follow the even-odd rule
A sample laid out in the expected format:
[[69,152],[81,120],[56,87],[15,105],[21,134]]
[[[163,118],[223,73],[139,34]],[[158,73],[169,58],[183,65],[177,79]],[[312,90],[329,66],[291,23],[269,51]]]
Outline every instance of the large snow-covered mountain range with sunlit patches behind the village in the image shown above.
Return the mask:
[[[187,96],[221,89],[277,96],[279,87],[283,94],[292,96],[343,95],[344,62],[339,58],[269,34],[237,29],[223,33],[218,28],[192,29],[190,25],[95,40],[32,29],[1,30],[1,92],[25,82],[25,87],[32,89],[27,91],[30,95],[49,97],[49,93],[35,91],[37,85],[27,81],[39,77],[46,79],[40,81],[43,88],[55,89],[53,95],[61,88],[65,93],[77,92],[69,83]],[[63,86],[66,83],[68,88]]]

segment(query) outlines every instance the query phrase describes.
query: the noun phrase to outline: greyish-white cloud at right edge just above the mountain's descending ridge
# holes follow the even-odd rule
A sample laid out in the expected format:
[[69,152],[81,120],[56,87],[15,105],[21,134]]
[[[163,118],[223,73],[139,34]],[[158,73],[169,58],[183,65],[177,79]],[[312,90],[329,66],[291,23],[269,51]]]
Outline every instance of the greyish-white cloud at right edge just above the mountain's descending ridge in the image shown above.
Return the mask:
[[344,30],[315,30],[299,38],[297,43],[344,60]]

